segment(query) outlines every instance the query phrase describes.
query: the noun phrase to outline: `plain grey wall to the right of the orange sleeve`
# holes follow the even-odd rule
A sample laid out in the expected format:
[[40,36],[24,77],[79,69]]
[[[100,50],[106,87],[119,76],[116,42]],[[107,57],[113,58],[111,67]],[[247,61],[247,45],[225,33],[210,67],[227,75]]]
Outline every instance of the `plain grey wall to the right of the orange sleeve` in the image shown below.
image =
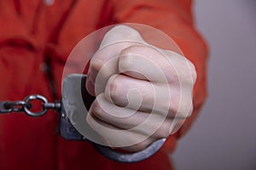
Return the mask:
[[196,0],[210,47],[208,98],[178,143],[177,170],[256,169],[256,1]]

